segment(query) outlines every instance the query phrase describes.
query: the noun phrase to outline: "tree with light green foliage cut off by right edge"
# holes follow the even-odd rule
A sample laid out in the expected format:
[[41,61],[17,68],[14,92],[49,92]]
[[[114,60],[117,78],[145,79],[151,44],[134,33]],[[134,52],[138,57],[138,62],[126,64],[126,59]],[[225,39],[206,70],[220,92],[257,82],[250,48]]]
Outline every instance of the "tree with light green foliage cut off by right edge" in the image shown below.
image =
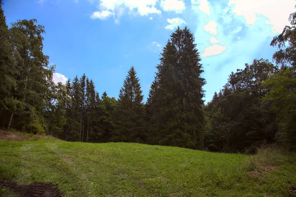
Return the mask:
[[290,15],[289,21],[292,26],[286,26],[270,43],[279,49],[273,59],[281,69],[264,82],[270,89],[264,100],[273,104],[280,127],[278,140],[296,150],[296,12]]

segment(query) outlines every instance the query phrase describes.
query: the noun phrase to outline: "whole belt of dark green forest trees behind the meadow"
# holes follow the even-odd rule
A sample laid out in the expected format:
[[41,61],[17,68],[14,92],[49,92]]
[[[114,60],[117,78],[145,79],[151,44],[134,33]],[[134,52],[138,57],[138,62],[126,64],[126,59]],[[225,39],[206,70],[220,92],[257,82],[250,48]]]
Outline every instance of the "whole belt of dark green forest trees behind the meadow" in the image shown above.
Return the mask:
[[255,59],[231,72],[208,103],[194,35],[178,27],[155,65],[144,103],[136,65],[118,99],[108,90],[99,94],[85,74],[56,84],[55,65],[42,51],[44,26],[36,19],[8,26],[0,1],[0,126],[66,141],[249,154],[277,143],[295,151],[296,12],[289,20],[270,43],[277,48],[272,60]]

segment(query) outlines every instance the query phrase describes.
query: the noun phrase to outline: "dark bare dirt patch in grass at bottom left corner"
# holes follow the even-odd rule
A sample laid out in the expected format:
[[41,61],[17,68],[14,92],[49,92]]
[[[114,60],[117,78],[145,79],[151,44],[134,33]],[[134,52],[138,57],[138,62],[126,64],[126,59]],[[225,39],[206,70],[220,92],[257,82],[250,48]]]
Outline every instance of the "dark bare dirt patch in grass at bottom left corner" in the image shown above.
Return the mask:
[[30,185],[18,185],[0,181],[0,184],[12,190],[19,197],[62,197],[57,186],[51,183],[34,183]]

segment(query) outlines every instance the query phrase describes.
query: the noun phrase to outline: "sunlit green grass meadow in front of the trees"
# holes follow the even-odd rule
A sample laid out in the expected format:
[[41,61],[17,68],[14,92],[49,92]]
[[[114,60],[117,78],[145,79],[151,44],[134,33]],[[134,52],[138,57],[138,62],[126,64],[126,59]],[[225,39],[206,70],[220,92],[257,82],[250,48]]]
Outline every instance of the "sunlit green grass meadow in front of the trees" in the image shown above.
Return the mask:
[[[296,157],[273,156],[262,165],[258,156],[176,147],[2,140],[0,180],[57,184],[67,197],[292,197]],[[0,185],[0,196],[14,195]]]

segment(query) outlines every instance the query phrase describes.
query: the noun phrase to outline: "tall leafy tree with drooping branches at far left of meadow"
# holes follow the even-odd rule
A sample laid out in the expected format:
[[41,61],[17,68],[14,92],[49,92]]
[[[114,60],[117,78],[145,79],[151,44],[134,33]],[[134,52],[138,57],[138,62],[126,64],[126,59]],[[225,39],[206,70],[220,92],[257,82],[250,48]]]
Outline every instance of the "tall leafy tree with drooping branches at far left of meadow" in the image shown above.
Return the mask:
[[54,66],[48,66],[48,56],[44,55],[44,27],[37,25],[37,20],[22,20],[11,24],[11,39],[17,58],[16,87],[11,91],[14,105],[9,109],[9,128],[15,119],[16,128],[44,132],[43,113],[46,108],[46,97],[52,85]]

